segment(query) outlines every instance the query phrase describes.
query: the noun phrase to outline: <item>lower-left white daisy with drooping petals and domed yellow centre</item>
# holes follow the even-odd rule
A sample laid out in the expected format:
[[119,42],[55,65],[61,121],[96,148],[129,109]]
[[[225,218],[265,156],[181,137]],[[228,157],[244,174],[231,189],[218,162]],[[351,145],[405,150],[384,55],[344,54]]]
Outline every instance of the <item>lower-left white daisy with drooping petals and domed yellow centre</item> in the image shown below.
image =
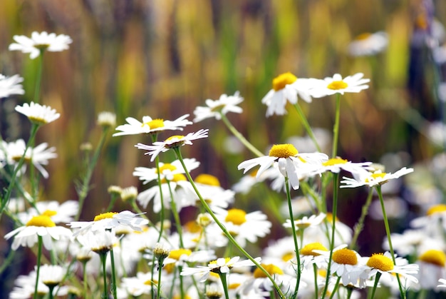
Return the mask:
[[38,236],[42,238],[43,246],[51,250],[53,239],[71,238],[71,230],[63,226],[57,226],[49,216],[40,215],[31,218],[26,225],[7,233],[4,238],[9,240],[14,237],[11,249],[16,250],[19,246],[33,247],[37,243]]

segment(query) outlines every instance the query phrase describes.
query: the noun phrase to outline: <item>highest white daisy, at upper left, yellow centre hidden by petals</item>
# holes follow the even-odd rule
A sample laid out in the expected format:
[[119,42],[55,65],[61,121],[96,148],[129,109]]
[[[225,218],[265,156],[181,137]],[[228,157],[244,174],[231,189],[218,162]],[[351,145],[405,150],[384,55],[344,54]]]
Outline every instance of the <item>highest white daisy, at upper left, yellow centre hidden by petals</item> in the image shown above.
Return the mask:
[[16,43],[9,45],[9,51],[22,51],[29,53],[31,59],[35,59],[41,54],[41,51],[60,52],[68,49],[71,44],[71,37],[65,34],[48,34],[46,31],[40,34],[34,31],[31,34],[31,39],[23,35],[13,36]]

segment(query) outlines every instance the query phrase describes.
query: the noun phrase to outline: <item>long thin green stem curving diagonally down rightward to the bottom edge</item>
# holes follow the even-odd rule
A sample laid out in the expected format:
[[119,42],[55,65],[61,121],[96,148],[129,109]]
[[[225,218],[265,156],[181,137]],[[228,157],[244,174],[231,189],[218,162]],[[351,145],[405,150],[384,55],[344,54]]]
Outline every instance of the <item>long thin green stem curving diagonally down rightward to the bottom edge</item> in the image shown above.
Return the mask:
[[209,208],[209,205],[206,203],[206,201],[204,201],[204,198],[199,193],[199,191],[197,189],[197,186],[194,183],[194,180],[192,180],[192,177],[190,176],[190,173],[189,173],[189,171],[186,168],[185,162],[183,161],[183,158],[182,158],[182,155],[181,155],[180,148],[177,147],[177,148],[172,148],[172,149],[175,151],[175,154],[176,154],[178,160],[180,161],[183,169],[185,170],[185,175],[186,175],[187,179],[191,183],[192,188],[194,188],[195,193],[197,193],[199,201],[202,203],[202,205],[204,206],[204,209],[207,211],[207,213],[209,213],[209,215],[212,217],[212,219],[214,219],[215,223],[217,223],[217,225],[222,230],[224,235],[226,235],[226,237],[229,239],[229,241],[238,250],[240,250],[240,252],[243,253],[244,256],[246,256],[249,260],[251,260],[251,262],[254,263],[254,265],[256,265],[257,268],[259,268],[259,270],[261,270],[261,272],[264,273],[264,275],[266,275],[266,277],[269,280],[271,280],[271,283],[273,284],[273,286],[276,289],[277,293],[279,293],[279,296],[281,298],[284,298],[284,293],[282,293],[281,289],[279,288],[279,285],[277,285],[277,283],[274,281],[274,278],[272,278],[272,276],[268,273],[268,271],[266,271],[265,268],[263,268],[254,258],[251,257],[251,255],[249,255],[249,253],[247,253],[247,250],[244,250],[244,248],[242,248],[242,246],[240,246],[239,243],[237,243],[237,241],[234,239],[234,237],[232,237],[231,233],[229,233],[227,228],[224,227],[224,225],[218,220],[217,216],[215,216],[214,212],[212,212],[211,208]]

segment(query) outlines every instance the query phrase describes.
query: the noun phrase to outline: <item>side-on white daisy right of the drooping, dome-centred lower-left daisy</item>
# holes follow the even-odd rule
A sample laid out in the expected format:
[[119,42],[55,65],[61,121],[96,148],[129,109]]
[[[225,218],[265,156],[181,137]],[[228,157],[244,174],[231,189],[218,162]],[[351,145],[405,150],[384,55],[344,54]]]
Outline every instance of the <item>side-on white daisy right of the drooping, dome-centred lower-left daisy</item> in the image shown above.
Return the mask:
[[87,231],[96,230],[113,230],[118,225],[129,226],[133,230],[142,231],[142,225],[149,223],[147,219],[141,218],[138,215],[130,211],[108,212],[95,216],[93,221],[72,221],[68,225],[71,228],[80,228],[73,235],[79,235]]

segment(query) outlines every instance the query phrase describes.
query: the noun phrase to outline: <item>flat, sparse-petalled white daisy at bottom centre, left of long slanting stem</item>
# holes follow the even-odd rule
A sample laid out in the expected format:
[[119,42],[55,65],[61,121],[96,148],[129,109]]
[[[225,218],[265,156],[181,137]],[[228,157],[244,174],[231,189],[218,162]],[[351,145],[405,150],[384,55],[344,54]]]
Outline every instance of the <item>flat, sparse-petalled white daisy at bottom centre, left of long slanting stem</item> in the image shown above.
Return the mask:
[[[197,266],[197,268],[183,268],[180,275],[199,275],[199,282],[202,283],[209,278],[210,273],[229,273],[232,268],[241,268],[252,266],[254,263],[251,260],[240,260],[239,256],[234,256],[234,258],[217,258],[217,260],[212,260],[206,266]],[[261,258],[254,258],[257,263],[260,262]]]

